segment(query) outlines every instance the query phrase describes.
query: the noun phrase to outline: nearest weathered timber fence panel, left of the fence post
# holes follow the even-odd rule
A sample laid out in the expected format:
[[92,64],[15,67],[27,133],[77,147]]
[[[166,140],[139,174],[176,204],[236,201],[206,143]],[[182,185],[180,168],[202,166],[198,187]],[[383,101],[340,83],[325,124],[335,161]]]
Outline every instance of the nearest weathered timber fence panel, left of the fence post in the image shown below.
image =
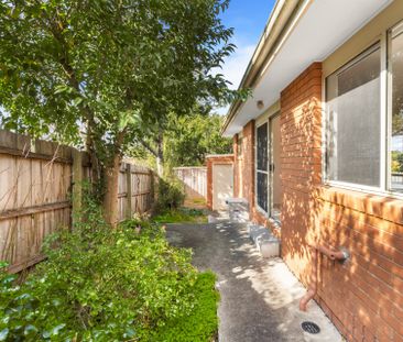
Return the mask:
[[70,224],[72,150],[0,131],[0,260],[19,272],[44,238]]

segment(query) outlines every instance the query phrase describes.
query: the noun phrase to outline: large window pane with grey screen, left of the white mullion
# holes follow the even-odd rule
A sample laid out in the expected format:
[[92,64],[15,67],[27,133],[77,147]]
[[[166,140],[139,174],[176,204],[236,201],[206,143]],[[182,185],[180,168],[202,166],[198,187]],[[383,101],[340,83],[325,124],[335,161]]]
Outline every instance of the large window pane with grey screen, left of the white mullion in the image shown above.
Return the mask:
[[380,186],[380,49],[326,79],[327,176]]

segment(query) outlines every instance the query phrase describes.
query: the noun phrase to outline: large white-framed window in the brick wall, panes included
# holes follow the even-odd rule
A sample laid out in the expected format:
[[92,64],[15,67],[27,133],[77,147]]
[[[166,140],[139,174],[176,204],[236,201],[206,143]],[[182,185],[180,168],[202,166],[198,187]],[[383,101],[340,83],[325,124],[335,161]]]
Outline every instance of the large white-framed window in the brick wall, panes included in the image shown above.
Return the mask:
[[403,192],[403,23],[326,78],[326,178]]

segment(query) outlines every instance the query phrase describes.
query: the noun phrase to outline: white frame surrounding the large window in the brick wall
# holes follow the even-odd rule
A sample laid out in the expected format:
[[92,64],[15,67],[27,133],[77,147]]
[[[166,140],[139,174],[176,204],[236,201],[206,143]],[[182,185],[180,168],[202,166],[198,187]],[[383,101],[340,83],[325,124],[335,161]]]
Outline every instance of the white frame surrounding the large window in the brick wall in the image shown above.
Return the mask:
[[366,185],[358,185],[352,183],[339,181],[339,180],[330,180],[327,174],[327,146],[328,146],[328,131],[327,131],[327,123],[328,123],[328,112],[327,112],[327,102],[326,102],[326,78],[333,74],[324,76],[322,79],[322,96],[324,101],[322,102],[323,109],[323,144],[322,144],[322,169],[323,169],[323,183],[328,186],[335,186],[348,190],[358,190],[361,192],[379,195],[379,196],[390,196],[395,197],[399,199],[403,199],[403,192],[393,191],[391,190],[391,132],[392,132],[392,110],[391,110],[391,73],[388,68],[389,62],[389,52],[390,52],[390,44],[392,42],[392,32],[394,31],[394,36],[399,33],[403,33],[403,21],[399,22],[397,24],[390,27],[388,31],[383,32],[378,42],[371,44],[366,49],[363,49],[360,54],[351,58],[348,63],[337,69],[335,73],[340,73],[341,70],[350,67],[369,53],[373,52],[375,48],[380,48],[381,54],[381,71],[380,71],[380,131],[381,131],[381,139],[380,139],[380,186],[372,187]]

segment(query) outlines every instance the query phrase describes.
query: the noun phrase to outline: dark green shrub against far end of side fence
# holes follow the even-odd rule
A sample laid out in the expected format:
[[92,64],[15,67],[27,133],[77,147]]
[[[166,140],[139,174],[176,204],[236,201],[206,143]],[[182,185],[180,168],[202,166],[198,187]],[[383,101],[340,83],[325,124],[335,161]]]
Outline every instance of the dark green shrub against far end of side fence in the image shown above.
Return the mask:
[[174,179],[159,179],[156,212],[179,208],[185,200],[183,185]]

